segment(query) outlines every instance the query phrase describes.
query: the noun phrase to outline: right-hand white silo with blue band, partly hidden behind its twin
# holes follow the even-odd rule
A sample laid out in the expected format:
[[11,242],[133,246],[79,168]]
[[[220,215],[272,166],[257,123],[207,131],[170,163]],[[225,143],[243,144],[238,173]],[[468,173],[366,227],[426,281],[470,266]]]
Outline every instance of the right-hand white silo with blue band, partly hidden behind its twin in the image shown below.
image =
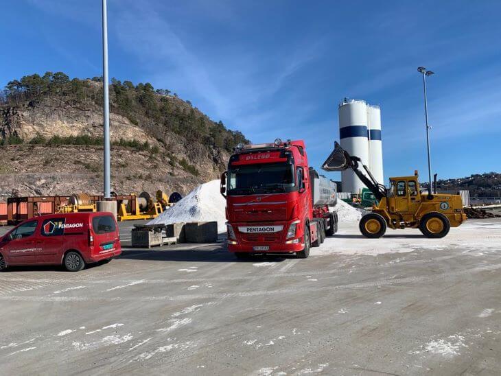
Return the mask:
[[381,108],[367,106],[367,128],[369,130],[369,170],[377,183],[384,185],[383,146],[381,141]]

